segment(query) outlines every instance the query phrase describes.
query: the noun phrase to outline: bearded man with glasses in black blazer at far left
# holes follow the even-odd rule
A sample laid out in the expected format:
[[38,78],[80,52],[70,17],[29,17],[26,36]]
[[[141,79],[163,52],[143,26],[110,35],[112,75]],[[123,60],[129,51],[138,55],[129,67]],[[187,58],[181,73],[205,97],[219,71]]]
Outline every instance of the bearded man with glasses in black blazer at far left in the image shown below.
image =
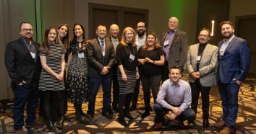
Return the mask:
[[35,107],[38,104],[38,81],[41,64],[38,56],[39,44],[33,41],[33,27],[28,22],[20,24],[21,37],[7,43],[5,50],[5,66],[12,79],[14,92],[14,129],[16,133],[24,133],[23,112],[27,104],[27,128],[40,128],[35,122]]

